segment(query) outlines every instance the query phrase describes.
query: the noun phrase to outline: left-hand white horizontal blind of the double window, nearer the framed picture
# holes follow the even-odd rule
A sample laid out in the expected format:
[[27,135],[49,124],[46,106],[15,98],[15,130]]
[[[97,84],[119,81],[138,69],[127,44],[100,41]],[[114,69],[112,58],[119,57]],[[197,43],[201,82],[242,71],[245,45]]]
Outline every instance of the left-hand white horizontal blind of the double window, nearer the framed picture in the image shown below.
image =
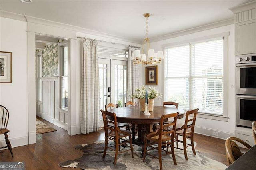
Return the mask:
[[189,108],[189,45],[165,50],[165,101]]

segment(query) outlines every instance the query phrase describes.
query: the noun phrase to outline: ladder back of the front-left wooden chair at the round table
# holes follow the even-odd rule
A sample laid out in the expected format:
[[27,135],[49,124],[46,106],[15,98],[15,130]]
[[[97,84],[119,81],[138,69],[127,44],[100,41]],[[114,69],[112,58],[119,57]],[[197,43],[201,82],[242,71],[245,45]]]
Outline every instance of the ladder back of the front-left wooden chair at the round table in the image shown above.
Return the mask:
[[104,130],[105,133],[108,133],[108,130],[111,130],[113,132],[117,132],[119,130],[119,127],[117,125],[116,121],[116,113],[111,113],[108,111],[100,110],[103,117],[103,123],[104,123]]

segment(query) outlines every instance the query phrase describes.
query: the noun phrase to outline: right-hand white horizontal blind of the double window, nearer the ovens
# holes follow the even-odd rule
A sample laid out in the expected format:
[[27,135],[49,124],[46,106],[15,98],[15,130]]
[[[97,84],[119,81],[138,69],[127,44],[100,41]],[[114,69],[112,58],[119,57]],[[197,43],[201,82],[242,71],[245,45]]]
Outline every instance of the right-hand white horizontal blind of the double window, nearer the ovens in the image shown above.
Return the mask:
[[223,114],[223,39],[191,45],[191,108]]

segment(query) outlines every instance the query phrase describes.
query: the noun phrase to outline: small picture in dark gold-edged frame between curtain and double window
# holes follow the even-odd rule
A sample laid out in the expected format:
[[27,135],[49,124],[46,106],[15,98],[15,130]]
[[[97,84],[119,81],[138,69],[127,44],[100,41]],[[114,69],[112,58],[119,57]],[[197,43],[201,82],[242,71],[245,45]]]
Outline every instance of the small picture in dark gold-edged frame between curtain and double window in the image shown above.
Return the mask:
[[158,66],[145,67],[146,85],[158,85]]

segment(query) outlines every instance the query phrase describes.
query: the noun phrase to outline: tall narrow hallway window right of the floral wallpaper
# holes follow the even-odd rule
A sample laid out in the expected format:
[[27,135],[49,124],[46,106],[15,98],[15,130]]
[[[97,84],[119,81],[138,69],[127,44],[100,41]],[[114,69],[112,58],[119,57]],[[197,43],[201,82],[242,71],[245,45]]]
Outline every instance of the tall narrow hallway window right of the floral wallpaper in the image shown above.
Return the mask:
[[68,107],[68,46],[61,47],[61,107]]

